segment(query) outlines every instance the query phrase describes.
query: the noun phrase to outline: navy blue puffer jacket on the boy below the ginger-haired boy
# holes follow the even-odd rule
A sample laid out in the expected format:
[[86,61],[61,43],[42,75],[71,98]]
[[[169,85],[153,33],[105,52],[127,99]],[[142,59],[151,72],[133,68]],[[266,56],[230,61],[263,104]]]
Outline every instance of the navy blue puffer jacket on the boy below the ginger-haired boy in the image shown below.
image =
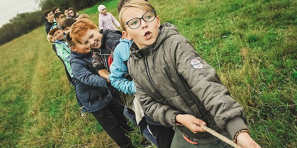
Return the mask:
[[70,65],[76,78],[77,97],[86,109],[94,112],[105,107],[112,96],[107,88],[106,79],[99,76],[92,66],[92,51],[87,54],[71,51]]

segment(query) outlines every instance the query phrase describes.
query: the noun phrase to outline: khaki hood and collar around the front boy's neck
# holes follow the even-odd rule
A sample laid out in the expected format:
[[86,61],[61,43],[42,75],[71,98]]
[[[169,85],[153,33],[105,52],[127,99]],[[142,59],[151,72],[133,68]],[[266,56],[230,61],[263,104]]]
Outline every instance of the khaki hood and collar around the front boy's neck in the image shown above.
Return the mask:
[[148,55],[148,53],[152,54],[155,50],[159,48],[159,46],[163,43],[165,39],[172,35],[178,35],[177,28],[170,23],[164,23],[159,28],[159,35],[156,41],[148,47],[144,47],[139,49],[135,42],[130,47],[130,56],[135,60],[140,60],[143,56]]

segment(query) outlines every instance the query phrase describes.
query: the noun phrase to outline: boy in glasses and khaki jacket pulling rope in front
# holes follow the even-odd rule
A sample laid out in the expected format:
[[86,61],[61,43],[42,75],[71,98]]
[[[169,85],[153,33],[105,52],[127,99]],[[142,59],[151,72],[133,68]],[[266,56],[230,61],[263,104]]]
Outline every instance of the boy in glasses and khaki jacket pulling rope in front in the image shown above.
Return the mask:
[[243,107],[175,26],[160,25],[155,9],[145,0],[126,2],[119,18],[123,36],[134,41],[128,70],[139,101],[149,117],[174,126],[171,148],[231,147],[200,126],[244,148],[260,148],[249,136]]

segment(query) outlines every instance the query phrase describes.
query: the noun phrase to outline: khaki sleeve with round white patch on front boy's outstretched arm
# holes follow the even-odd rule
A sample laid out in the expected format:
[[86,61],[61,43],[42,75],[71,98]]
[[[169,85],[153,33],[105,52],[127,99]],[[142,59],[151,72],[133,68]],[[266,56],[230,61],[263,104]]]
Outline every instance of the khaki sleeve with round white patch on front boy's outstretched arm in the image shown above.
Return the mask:
[[[205,109],[214,116],[216,124],[232,137],[247,129],[243,107],[230,97],[230,92],[221,84],[216,71],[194,50],[187,39],[171,47],[176,69],[188,82],[192,92]],[[172,53],[172,52],[171,52]]]

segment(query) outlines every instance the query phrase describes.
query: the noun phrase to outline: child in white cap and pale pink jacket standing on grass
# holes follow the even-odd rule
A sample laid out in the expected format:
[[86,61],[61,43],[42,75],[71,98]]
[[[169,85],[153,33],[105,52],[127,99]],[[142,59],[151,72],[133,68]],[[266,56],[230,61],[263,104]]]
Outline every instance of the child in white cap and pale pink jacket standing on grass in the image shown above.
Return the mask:
[[107,12],[105,5],[100,4],[98,6],[99,11],[99,29],[110,29],[110,30],[122,30],[120,23],[114,18],[114,16]]

